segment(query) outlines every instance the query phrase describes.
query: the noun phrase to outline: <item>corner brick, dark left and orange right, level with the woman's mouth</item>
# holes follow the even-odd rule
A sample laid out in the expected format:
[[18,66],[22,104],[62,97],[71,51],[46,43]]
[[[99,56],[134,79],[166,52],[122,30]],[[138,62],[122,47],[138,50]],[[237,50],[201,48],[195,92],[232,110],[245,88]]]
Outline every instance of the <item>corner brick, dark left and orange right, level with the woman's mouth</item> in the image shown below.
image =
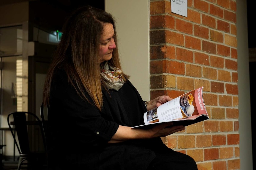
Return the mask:
[[175,47],[173,46],[151,46],[150,59],[175,59]]

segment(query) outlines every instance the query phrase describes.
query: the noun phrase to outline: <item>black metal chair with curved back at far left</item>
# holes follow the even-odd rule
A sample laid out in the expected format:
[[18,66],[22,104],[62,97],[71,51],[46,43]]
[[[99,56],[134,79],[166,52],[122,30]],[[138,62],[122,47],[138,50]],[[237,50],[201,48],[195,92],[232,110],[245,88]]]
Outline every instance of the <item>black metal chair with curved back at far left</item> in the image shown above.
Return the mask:
[[[20,154],[18,170],[23,169],[25,165],[26,169],[47,169],[46,142],[40,119],[31,112],[21,111],[10,113],[7,122]],[[15,133],[11,125],[15,126]],[[43,147],[40,147],[40,144],[43,144]]]

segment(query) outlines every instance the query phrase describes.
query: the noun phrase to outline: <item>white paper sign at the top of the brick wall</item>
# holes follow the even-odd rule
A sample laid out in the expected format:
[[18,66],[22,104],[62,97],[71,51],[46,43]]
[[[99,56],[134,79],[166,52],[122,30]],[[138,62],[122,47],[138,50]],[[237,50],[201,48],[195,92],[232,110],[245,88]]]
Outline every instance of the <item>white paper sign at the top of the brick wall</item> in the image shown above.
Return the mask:
[[173,13],[187,17],[187,0],[171,0],[171,10]]

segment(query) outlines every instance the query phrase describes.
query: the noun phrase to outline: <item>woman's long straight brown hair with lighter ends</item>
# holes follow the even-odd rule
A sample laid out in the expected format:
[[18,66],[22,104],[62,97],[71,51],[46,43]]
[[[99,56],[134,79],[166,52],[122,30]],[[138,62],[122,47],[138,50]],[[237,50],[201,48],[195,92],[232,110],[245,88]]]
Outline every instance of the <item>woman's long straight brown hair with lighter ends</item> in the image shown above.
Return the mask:
[[[116,48],[112,59],[108,62],[121,69],[117,48],[117,34],[113,16],[101,9],[91,6],[76,9],[66,20],[62,29],[62,37],[53,55],[43,89],[43,103],[49,105],[51,83],[56,69],[66,71],[68,81],[73,85],[81,98],[88,100],[84,89],[99,110],[103,105],[102,91],[104,87],[100,76],[99,45],[103,33],[103,24],[113,25]],[[98,70],[98,71],[97,71]],[[129,78],[123,74],[124,81]]]

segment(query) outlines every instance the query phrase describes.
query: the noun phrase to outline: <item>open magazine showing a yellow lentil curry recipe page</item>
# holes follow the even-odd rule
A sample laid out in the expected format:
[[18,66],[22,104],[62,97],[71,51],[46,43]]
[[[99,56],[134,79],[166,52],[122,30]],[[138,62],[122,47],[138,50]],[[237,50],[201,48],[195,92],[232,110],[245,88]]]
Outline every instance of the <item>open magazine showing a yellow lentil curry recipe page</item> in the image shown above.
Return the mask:
[[133,128],[150,128],[163,122],[187,126],[209,119],[203,101],[203,86],[147,111],[143,118],[145,124]]

